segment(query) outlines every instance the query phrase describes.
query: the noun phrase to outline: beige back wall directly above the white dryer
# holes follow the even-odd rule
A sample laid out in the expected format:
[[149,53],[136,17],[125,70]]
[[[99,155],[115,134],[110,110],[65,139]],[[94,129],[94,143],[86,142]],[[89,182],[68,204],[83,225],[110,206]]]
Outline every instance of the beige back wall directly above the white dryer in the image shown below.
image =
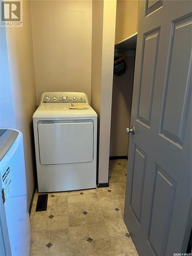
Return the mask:
[[37,104],[46,91],[91,98],[92,1],[32,1]]

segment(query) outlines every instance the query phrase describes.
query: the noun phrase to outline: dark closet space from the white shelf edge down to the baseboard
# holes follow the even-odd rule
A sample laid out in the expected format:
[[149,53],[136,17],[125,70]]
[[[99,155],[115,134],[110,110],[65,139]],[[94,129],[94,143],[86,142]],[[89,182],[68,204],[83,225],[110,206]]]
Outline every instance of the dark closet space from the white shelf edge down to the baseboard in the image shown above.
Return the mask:
[[137,33],[115,45],[110,159],[126,159],[130,125]]

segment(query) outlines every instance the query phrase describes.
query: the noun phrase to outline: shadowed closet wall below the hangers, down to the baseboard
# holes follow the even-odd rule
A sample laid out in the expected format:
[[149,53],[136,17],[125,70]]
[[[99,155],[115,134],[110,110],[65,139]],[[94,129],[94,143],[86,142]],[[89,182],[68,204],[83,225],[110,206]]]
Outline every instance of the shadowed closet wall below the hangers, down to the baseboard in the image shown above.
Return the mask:
[[114,75],[113,80],[110,156],[127,156],[129,136],[125,130],[131,119],[135,57],[126,57],[126,65],[125,73]]

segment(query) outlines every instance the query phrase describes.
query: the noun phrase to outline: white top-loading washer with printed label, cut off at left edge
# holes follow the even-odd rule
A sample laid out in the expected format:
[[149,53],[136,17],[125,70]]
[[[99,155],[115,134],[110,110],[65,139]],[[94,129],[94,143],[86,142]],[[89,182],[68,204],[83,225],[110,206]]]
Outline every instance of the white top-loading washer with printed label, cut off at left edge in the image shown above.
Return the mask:
[[0,255],[28,256],[30,222],[20,132],[0,129]]

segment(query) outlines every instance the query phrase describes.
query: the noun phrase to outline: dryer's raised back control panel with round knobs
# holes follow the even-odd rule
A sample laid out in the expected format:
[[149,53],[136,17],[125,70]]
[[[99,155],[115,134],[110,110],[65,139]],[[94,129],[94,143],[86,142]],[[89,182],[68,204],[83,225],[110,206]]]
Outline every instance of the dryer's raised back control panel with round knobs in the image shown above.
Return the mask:
[[42,94],[40,104],[44,103],[88,103],[85,93],[79,92],[46,92]]

